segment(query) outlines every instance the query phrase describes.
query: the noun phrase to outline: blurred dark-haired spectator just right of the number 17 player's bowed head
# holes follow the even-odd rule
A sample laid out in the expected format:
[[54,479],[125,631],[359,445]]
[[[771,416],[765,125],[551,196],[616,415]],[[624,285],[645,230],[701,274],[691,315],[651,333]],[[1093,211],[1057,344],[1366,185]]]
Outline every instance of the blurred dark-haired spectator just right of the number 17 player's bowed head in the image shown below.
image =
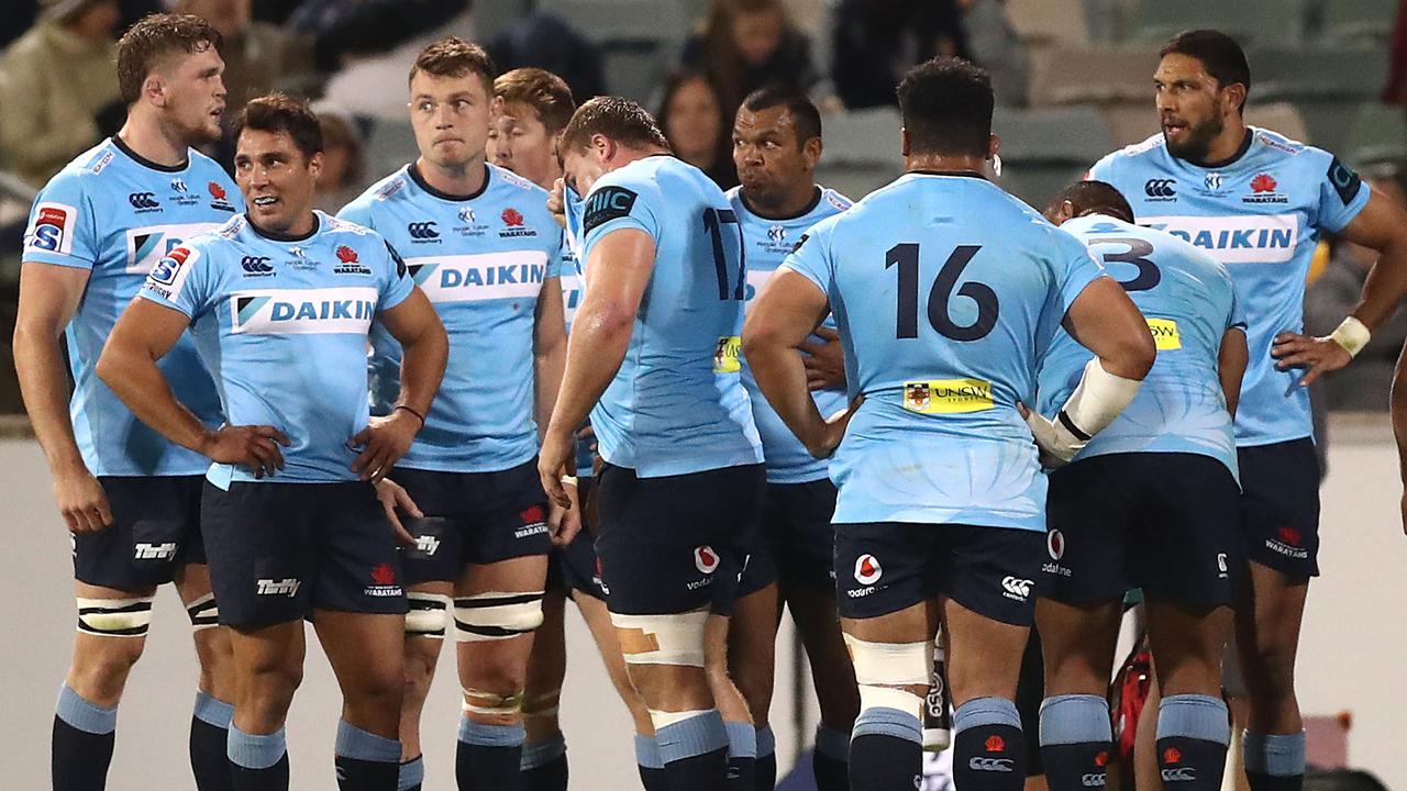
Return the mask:
[[737,186],[732,135],[718,90],[705,75],[678,72],[664,84],[657,121],[674,156],[698,167],[723,190]]

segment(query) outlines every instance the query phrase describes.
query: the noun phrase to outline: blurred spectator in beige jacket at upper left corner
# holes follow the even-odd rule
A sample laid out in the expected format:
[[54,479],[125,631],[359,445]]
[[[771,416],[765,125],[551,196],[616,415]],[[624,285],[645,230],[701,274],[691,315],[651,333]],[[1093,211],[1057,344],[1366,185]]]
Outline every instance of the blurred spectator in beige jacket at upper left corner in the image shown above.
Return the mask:
[[39,23],[0,56],[0,170],[42,187],[114,134],[117,0],[44,0]]

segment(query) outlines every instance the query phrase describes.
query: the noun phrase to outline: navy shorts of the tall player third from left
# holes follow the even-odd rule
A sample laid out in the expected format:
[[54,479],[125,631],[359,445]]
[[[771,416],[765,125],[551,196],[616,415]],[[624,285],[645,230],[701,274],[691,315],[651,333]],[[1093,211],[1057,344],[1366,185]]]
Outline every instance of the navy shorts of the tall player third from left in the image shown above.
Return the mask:
[[454,581],[469,564],[547,555],[547,495],[537,460],[492,473],[439,473],[397,467],[424,519],[401,519],[415,536],[404,550],[409,584]]

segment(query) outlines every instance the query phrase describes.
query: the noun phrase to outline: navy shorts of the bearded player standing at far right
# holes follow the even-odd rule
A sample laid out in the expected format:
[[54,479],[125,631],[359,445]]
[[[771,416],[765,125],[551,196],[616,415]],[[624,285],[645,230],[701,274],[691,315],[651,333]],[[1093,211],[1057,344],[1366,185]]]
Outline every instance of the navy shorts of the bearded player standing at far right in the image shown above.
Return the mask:
[[1247,560],[1318,577],[1318,456],[1310,438],[1237,448]]

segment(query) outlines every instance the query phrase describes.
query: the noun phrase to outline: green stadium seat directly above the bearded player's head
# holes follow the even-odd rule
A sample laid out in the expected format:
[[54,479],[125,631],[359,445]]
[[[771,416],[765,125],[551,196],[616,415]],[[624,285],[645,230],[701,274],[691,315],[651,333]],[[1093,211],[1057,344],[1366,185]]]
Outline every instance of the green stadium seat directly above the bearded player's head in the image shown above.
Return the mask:
[[1303,28],[1300,0],[1141,0],[1131,38],[1164,42],[1192,28],[1216,28],[1241,45],[1297,41]]

